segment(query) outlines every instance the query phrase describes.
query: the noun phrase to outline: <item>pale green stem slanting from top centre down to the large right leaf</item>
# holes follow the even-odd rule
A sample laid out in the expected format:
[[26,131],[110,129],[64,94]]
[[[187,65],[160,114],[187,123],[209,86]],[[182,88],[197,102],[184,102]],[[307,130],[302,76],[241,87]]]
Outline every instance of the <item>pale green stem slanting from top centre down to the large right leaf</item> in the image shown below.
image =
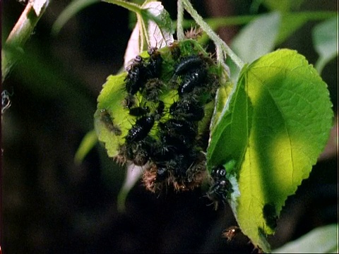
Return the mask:
[[244,62],[242,59],[240,59],[233,51],[230,49],[230,47],[227,46],[227,44],[220,39],[220,37],[210,28],[210,26],[203,21],[203,18],[196,12],[196,10],[193,8],[189,0],[182,0],[184,4],[184,8],[186,11],[196,20],[196,23],[200,25],[201,29],[206,32],[208,37],[210,37],[210,40],[213,40],[216,47],[216,53],[217,53],[217,59],[221,63],[225,63],[225,54],[230,56],[232,61],[241,69],[244,66]]

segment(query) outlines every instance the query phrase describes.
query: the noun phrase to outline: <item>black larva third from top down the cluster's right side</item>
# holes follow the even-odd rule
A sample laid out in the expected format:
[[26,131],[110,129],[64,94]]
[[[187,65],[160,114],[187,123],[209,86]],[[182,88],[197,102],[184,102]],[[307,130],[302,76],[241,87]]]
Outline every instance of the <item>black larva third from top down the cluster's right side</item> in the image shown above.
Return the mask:
[[169,107],[169,114],[172,114],[175,119],[182,119],[187,121],[200,121],[205,116],[203,105],[189,98],[180,99],[174,102]]

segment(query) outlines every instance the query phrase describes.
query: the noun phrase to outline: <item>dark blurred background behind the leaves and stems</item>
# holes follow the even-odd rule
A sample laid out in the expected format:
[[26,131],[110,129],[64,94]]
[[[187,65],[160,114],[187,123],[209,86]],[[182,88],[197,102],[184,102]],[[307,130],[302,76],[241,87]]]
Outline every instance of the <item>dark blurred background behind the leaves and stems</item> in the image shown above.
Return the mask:
[[[307,2],[307,3],[306,3]],[[335,1],[306,1],[302,10],[337,11]],[[309,3],[311,2],[311,3]],[[176,19],[176,1],[162,1]],[[193,1],[204,17],[249,14],[250,1]],[[1,1],[2,42],[24,6]],[[96,98],[108,75],[121,68],[131,26],[129,12],[98,3],[85,8],[61,30],[52,24],[69,1],[52,1],[37,24],[25,56],[2,85],[13,93],[1,120],[1,248],[4,253],[247,252],[248,239],[221,238],[236,224],[230,207],[215,211],[203,191],[159,196],[138,182],[117,212],[117,193],[125,169],[97,144],[81,165],[74,154],[93,129]],[[263,13],[266,8],[258,10]],[[309,22],[279,47],[317,59]],[[224,28],[227,42],[239,27]],[[338,59],[323,70],[337,112]],[[335,134],[336,131],[333,131]],[[334,149],[334,151],[333,151]],[[330,149],[288,198],[272,247],[317,226],[338,222],[338,161]],[[332,151],[332,152],[331,152]]]

